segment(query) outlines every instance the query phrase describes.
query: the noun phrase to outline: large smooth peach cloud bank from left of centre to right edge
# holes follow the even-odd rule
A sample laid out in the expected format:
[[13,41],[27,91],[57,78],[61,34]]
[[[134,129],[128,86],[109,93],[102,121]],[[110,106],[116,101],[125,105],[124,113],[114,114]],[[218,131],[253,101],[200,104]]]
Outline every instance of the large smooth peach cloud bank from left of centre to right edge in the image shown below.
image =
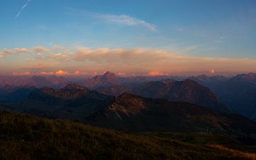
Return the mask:
[[[191,47],[191,50],[196,47]],[[256,69],[256,59],[232,59],[222,57],[193,57],[163,50],[108,49],[91,50],[78,48],[72,55],[77,62],[87,67],[110,68],[128,72],[152,72],[150,74],[201,72],[215,67],[220,72],[245,72]],[[89,65],[90,64],[90,65]]]

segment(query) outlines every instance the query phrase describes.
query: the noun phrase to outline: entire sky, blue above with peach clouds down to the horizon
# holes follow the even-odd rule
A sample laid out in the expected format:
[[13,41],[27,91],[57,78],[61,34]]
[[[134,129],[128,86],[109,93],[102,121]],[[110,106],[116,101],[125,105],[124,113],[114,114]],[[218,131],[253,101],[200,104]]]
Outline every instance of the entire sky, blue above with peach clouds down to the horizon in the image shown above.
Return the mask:
[[256,1],[1,0],[0,74],[256,72]]

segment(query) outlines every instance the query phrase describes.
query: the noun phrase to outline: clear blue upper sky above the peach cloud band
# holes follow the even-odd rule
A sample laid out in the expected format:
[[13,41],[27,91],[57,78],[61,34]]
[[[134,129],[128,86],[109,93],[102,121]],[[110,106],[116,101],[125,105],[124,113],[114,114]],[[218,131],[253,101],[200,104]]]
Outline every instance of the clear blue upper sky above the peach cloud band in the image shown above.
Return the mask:
[[256,59],[256,1],[2,0],[0,15],[0,51],[58,45]]

